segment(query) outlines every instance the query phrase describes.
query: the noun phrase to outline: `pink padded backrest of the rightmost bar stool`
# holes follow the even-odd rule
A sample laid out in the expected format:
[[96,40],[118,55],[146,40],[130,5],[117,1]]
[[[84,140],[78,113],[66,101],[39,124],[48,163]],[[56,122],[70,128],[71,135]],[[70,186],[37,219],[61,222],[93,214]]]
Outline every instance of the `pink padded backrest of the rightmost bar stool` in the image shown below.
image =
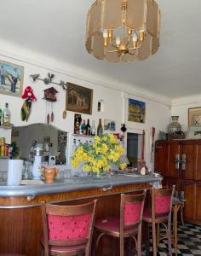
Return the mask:
[[171,201],[171,195],[156,195],[155,196],[155,212],[168,213]]

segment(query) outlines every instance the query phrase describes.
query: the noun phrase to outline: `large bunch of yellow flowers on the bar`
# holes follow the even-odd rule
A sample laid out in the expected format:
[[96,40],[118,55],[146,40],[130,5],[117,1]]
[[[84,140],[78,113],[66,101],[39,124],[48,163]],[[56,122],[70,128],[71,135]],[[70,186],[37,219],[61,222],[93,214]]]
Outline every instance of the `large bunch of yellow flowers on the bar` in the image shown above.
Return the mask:
[[118,138],[112,134],[95,137],[94,143],[79,146],[72,155],[72,167],[77,168],[83,163],[84,172],[108,171],[112,165],[123,169],[126,165],[119,161],[123,148],[118,143]]

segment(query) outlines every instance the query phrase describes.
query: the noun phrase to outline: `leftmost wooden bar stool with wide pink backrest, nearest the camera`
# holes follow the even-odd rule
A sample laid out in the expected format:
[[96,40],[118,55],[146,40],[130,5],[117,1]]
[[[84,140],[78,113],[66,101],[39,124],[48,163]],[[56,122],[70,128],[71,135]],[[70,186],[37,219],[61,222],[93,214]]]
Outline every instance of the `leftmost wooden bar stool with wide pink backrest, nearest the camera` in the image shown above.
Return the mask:
[[96,200],[82,205],[41,203],[45,256],[90,255]]

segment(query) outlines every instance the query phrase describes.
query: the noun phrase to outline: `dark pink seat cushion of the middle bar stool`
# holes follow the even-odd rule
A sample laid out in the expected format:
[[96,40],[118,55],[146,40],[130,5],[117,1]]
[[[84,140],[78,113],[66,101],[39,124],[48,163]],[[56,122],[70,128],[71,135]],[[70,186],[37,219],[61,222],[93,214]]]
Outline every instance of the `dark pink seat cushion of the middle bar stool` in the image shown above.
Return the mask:
[[120,220],[116,217],[111,218],[100,218],[95,221],[95,227],[101,230],[107,230],[112,232],[119,232],[120,230]]

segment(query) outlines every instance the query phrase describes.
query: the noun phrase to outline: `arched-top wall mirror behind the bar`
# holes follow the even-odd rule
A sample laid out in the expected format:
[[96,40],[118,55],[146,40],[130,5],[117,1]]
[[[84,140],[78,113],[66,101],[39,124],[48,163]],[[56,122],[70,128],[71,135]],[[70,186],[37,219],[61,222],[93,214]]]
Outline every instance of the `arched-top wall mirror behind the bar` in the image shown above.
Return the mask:
[[43,144],[43,161],[49,166],[66,164],[67,132],[52,125],[33,124],[13,127],[12,143],[16,145],[18,157],[30,160],[34,143]]

